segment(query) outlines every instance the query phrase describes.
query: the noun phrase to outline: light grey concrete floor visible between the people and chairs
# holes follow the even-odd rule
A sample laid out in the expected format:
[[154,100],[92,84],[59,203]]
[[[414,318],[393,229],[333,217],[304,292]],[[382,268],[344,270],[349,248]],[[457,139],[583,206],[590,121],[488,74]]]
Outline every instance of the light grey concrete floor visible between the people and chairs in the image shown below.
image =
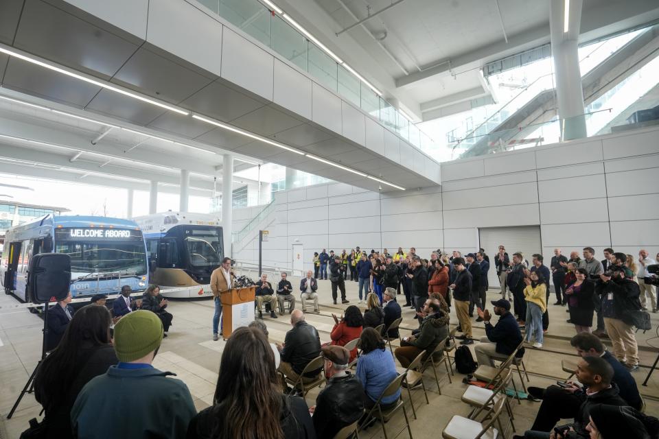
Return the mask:
[[[299,280],[290,278],[293,285],[299,285]],[[296,282],[297,281],[297,282]],[[357,299],[357,283],[347,282],[347,298],[349,305],[359,305]],[[321,314],[307,314],[307,320],[313,324],[321,334],[321,342],[329,341],[329,331],[333,321],[331,313],[340,313],[347,305],[332,305],[332,295],[329,281],[319,281],[319,295],[321,297]],[[494,289],[489,290],[488,300],[498,298]],[[404,303],[404,296],[399,296],[399,302]],[[27,394],[19,405],[14,417],[6,419],[16,397],[23,385],[30,377],[41,355],[41,329],[43,321],[27,310],[7,310],[6,305],[13,305],[16,299],[12,296],[0,295],[0,439],[18,438],[21,431],[27,428],[27,421],[38,416],[41,406],[36,403],[32,394]],[[297,305],[301,307],[301,305]],[[364,307],[363,304],[360,307]],[[491,307],[490,307],[491,308]],[[311,309],[311,307],[309,308]],[[527,385],[546,386],[555,383],[557,379],[565,379],[566,373],[561,369],[561,360],[575,358],[575,351],[568,340],[574,335],[574,329],[565,322],[567,314],[564,307],[550,306],[550,328],[545,337],[542,350],[527,349],[524,363],[530,372],[531,383]],[[170,336],[163,340],[160,352],[154,361],[154,366],[161,370],[170,370],[178,375],[187,384],[194,403],[198,410],[207,407],[213,398],[217,371],[224,342],[211,340],[211,318],[213,304],[211,300],[172,300],[168,310],[174,315],[174,322],[170,329]],[[659,324],[659,315],[652,314],[653,326]],[[496,318],[495,318],[496,320]],[[286,331],[290,329],[288,315],[277,320],[265,318],[270,332],[270,341],[281,342]],[[452,324],[457,320],[454,314]],[[478,339],[485,335],[483,325],[475,323],[474,337]],[[413,311],[409,308],[403,310],[402,335],[406,335],[417,327],[413,320]],[[640,359],[642,367],[632,375],[638,382],[640,392],[647,403],[647,413],[659,414],[659,371],[652,375],[647,387],[640,386],[649,366],[656,358],[656,350],[647,347],[647,340],[653,337],[655,331],[646,334],[638,333],[638,344],[641,348]],[[659,340],[651,340],[654,346],[659,346]],[[395,343],[397,345],[397,343]],[[474,345],[472,345],[472,348]],[[413,437],[417,439],[437,438],[441,429],[448,423],[454,414],[466,415],[470,410],[461,401],[461,396],[467,385],[462,383],[463,375],[456,372],[449,383],[446,372],[439,371],[441,380],[441,395],[437,392],[437,385],[430,372],[426,372],[424,383],[428,389],[430,404],[426,405],[421,390],[413,390],[412,396],[417,409],[419,420],[414,420],[412,411],[406,402],[408,416],[411,420]],[[516,379],[519,388],[519,379]],[[312,405],[318,390],[313,390],[307,396],[307,403]],[[407,400],[406,392],[404,399]],[[540,403],[522,401],[521,405],[513,403],[515,426],[518,434],[530,427]],[[430,422],[428,422],[430,420]],[[386,423],[389,437],[404,427],[402,414]],[[506,437],[511,436],[510,429]],[[402,438],[407,433],[403,433]],[[360,438],[384,438],[382,427],[376,424],[366,431],[360,432]]]

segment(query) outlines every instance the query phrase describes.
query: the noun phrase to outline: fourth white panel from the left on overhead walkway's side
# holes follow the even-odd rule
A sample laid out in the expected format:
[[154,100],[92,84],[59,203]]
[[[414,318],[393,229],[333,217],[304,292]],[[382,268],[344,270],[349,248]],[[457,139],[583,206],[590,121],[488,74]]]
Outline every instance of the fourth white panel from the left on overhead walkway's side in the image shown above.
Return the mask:
[[312,80],[299,71],[275,59],[273,101],[311,120]]

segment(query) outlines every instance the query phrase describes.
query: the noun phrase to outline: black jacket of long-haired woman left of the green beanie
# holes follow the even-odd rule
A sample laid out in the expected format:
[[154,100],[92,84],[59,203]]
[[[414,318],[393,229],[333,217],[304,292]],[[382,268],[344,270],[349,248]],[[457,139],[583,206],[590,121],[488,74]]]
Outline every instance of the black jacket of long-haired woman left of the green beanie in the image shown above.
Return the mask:
[[[45,359],[48,361],[49,357]],[[119,360],[111,344],[103,346],[80,346],[80,353],[75,364],[69,365],[78,369],[69,385],[66,394],[47,394],[45,381],[52,377],[45,377],[37,372],[34,378],[34,396],[45,410],[45,423],[47,425],[47,438],[73,438],[71,431],[71,407],[76,402],[78,393],[93,377],[103,375],[108,367],[117,364]]]

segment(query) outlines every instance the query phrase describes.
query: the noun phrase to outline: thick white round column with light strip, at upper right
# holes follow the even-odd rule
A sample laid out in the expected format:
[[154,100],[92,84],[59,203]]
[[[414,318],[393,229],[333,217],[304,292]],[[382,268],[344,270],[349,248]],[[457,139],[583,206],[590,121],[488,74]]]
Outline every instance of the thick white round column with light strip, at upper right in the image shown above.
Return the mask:
[[[566,3],[569,5],[567,11]],[[551,54],[556,78],[561,137],[564,141],[581,139],[587,135],[578,53],[583,0],[553,0],[549,4]]]

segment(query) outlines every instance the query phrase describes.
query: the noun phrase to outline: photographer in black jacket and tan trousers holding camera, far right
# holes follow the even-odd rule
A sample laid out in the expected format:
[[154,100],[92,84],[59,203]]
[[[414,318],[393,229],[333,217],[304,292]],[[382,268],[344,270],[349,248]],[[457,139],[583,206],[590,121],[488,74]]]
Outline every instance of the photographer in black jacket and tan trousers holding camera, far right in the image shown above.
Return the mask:
[[634,326],[640,311],[638,284],[625,277],[625,268],[613,265],[610,272],[599,275],[595,285],[601,315],[613,343],[613,353],[628,370],[638,369],[638,344]]

